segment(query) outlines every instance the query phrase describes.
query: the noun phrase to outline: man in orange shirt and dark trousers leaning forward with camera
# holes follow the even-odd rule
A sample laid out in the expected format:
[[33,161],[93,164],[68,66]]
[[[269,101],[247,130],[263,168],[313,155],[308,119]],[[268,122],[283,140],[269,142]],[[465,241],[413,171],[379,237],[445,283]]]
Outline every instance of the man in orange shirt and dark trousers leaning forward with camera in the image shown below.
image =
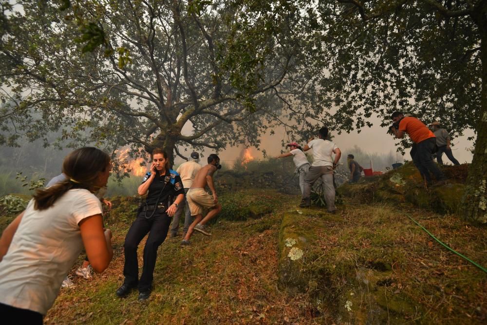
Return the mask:
[[416,117],[404,117],[401,112],[394,112],[391,117],[394,121],[391,131],[396,138],[402,138],[404,133],[409,134],[413,142],[412,162],[428,185],[432,185],[430,172],[437,180],[435,185],[445,184],[447,178],[431,157],[431,154],[436,151],[436,138],[430,129]]

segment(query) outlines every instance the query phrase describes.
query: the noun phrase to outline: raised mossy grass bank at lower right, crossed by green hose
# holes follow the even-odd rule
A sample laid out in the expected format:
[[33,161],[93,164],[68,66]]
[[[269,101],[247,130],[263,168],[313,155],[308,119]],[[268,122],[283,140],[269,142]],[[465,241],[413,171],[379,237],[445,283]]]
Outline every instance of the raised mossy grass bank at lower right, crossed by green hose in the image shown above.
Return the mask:
[[[297,232],[307,241],[298,244],[304,251],[301,260],[289,268],[289,249],[284,248],[280,261],[289,268],[283,280],[292,275],[285,287],[295,290],[297,284],[299,292],[312,292],[321,302],[315,308],[344,322],[483,323],[486,274],[434,242],[405,213],[483,266],[485,228],[407,205],[345,203],[341,222],[326,215],[317,220],[316,211],[302,209],[300,218],[285,219],[282,236]],[[344,308],[347,301],[351,312]]]

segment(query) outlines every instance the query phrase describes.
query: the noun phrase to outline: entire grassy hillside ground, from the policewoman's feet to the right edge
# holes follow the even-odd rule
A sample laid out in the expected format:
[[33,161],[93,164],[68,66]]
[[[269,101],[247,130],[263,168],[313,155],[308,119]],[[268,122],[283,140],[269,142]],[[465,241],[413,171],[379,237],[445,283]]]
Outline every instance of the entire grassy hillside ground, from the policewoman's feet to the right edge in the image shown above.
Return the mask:
[[[484,267],[485,228],[406,203],[358,204],[345,199],[339,213],[330,215],[319,208],[296,208],[298,196],[270,190],[222,193],[220,200],[224,210],[211,226],[211,237],[197,234],[183,249],[179,238],[168,238],[161,246],[152,296],[139,303],[135,292],[125,299],[114,294],[123,281],[122,246],[138,199],[113,198],[114,209],[106,216],[114,233],[111,266],[91,280],[74,275],[76,287],[61,290],[45,323],[487,320],[486,273],[440,246],[407,214]],[[142,249],[140,245],[139,256]]]

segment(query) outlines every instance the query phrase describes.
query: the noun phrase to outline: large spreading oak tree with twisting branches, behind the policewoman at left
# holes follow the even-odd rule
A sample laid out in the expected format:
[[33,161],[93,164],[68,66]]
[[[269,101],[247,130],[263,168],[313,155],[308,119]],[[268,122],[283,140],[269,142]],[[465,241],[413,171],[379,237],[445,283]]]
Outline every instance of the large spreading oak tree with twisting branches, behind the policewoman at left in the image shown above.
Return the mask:
[[297,8],[280,1],[2,8],[0,142],[62,130],[72,146],[130,146],[132,157],[258,145],[281,115],[278,88],[297,65],[303,32],[289,28],[300,26]]

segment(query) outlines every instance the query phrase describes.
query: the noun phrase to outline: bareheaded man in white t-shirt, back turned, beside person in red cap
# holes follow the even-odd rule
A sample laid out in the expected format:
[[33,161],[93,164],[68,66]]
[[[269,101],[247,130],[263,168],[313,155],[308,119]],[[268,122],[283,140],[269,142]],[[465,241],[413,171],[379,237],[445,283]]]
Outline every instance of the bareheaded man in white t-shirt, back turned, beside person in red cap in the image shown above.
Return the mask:
[[[318,178],[321,178],[323,181],[326,208],[328,212],[336,213],[333,170],[340,160],[341,151],[335,143],[326,140],[327,136],[328,128],[322,127],[318,131],[318,139],[311,138],[303,148],[304,151],[313,149],[314,160],[304,177],[303,198],[300,207],[307,208],[311,206],[311,187]],[[332,157],[332,153],[335,153],[335,158]]]

